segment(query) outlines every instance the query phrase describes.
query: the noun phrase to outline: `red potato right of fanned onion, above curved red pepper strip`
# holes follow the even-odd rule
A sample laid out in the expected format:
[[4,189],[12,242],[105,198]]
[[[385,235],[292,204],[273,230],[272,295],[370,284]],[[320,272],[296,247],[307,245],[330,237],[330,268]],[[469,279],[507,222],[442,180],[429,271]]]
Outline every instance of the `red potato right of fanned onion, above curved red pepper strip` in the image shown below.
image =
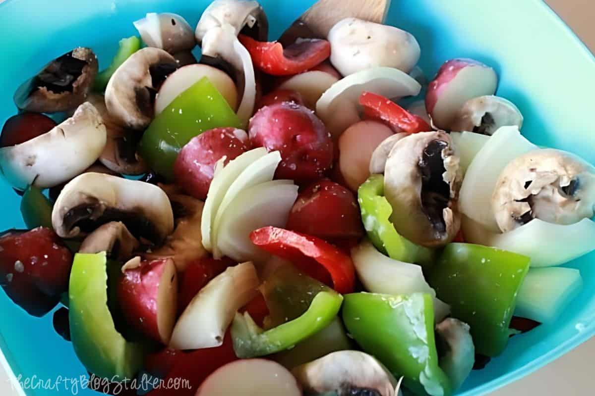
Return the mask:
[[312,183],[300,192],[286,228],[327,240],[364,236],[355,196],[349,189],[327,179]]

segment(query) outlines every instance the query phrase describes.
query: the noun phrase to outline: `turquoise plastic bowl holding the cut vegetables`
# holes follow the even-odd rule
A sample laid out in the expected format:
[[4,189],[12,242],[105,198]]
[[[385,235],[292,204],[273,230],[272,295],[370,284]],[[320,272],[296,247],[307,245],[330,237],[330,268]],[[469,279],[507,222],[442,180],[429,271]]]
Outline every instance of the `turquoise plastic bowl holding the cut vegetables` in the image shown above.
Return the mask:
[[[314,1],[262,0],[278,37]],[[50,59],[76,46],[95,49],[104,68],[121,37],[136,34],[132,21],[146,12],[177,12],[191,25],[209,0],[8,0],[0,5],[0,121],[16,112],[12,93]],[[568,27],[540,0],[393,0],[388,23],[410,31],[421,48],[421,67],[432,77],[455,57],[475,58],[496,68],[498,94],[525,116],[523,133],[539,145],[562,148],[595,161],[590,120],[595,62]],[[5,208],[0,229],[23,227],[20,198],[2,180]],[[539,243],[539,241],[536,241]],[[459,395],[480,395],[521,378],[595,334],[595,268],[590,254],[568,264],[583,274],[583,293],[555,324],[512,338],[486,369],[475,371]],[[80,378],[86,370],[70,343],[52,328],[52,315],[28,316],[0,293],[0,347],[15,375],[38,379]],[[62,387],[61,392],[64,392]],[[80,395],[92,395],[80,390]],[[28,395],[57,394],[28,389]]]

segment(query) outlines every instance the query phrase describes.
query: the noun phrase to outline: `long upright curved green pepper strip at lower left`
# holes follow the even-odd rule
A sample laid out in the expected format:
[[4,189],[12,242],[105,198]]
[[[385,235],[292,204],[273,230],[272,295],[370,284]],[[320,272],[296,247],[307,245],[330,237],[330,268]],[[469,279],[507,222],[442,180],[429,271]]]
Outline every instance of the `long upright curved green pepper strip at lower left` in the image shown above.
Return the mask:
[[142,368],[145,348],[115,330],[107,306],[107,271],[105,252],[74,256],[68,289],[70,337],[90,373],[124,381]]

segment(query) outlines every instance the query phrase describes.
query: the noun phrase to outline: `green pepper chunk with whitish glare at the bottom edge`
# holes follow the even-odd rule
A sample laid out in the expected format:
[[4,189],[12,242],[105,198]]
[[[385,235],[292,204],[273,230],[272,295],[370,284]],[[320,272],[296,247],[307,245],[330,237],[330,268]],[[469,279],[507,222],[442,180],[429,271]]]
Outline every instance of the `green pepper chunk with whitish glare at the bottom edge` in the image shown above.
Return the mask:
[[424,396],[451,394],[449,379],[439,367],[430,294],[347,294],[343,322],[366,353],[397,378],[404,377],[406,388]]

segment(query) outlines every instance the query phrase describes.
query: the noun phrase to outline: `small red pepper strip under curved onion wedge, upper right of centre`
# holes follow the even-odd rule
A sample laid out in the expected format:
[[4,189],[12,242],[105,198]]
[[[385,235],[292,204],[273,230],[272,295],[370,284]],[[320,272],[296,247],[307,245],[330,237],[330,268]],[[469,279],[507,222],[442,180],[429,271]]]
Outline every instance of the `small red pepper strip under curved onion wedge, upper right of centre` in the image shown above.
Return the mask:
[[387,123],[395,133],[417,134],[417,132],[433,130],[423,118],[409,113],[384,96],[364,92],[359,97],[359,104],[364,107],[364,114],[367,118]]

